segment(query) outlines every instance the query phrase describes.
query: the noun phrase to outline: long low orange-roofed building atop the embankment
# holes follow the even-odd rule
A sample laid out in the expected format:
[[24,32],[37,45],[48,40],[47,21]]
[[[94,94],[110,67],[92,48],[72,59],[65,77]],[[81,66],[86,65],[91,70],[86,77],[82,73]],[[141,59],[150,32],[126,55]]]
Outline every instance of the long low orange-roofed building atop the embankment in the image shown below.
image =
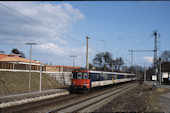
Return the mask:
[[[44,65],[38,61],[31,61],[31,70],[40,70],[46,72],[72,72],[73,69],[79,69],[80,67],[73,66],[55,66],[55,65]],[[30,60],[21,58],[18,54],[3,54],[0,53],[0,69],[1,70],[29,70]]]

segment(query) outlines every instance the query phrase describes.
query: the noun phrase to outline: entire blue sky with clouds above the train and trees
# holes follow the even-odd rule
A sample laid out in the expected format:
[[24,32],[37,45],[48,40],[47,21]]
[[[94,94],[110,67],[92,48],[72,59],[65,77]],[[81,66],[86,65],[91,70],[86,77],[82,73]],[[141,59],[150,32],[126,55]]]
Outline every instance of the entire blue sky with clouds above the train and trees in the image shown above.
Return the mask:
[[[86,66],[97,53],[110,52],[130,66],[128,50],[153,50],[153,31],[161,51],[170,50],[169,1],[10,1],[0,2],[0,50],[13,48],[29,59],[52,65]],[[160,52],[158,51],[158,55]],[[134,52],[133,64],[151,66],[153,52]]]

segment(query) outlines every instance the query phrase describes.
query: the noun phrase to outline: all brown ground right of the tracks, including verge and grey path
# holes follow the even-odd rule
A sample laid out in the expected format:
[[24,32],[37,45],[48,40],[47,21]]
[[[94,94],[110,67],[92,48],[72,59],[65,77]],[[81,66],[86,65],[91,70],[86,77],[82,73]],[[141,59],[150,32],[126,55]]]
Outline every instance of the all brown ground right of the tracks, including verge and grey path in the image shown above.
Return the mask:
[[170,90],[158,87],[152,90],[152,83],[141,84],[139,87],[120,95],[94,112],[170,112]]

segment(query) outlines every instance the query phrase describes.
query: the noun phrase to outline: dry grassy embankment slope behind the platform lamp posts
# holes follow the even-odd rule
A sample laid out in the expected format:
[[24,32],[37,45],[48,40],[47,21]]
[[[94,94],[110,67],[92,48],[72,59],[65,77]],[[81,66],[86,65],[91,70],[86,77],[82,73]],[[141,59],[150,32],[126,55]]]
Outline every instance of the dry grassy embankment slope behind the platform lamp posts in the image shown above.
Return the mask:
[[[31,92],[39,91],[40,73],[31,73]],[[0,72],[0,95],[28,92],[28,72]],[[64,87],[48,74],[42,74],[42,90]]]

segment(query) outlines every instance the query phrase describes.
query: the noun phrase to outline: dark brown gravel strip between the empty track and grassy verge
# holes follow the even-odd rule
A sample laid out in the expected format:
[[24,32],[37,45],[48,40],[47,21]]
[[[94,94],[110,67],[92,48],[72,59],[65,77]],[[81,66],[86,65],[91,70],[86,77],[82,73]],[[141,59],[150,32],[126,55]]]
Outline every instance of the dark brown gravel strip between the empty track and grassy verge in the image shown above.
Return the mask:
[[144,112],[147,102],[143,98],[147,95],[144,90],[147,92],[148,88],[139,85],[94,112]]

